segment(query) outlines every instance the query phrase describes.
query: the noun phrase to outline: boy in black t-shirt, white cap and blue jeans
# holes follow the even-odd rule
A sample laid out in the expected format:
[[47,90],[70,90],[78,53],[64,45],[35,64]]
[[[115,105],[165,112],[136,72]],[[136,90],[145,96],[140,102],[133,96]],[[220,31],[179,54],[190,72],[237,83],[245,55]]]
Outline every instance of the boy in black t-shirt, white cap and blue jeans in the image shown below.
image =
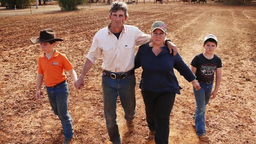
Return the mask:
[[[191,70],[197,76],[201,89],[194,91],[196,109],[193,115],[193,126],[196,127],[196,134],[200,140],[208,140],[205,129],[205,107],[210,98],[216,97],[221,84],[222,62],[221,58],[214,54],[217,48],[217,38],[210,34],[204,38],[204,52],[197,54],[192,62]],[[212,91],[214,72],[216,71],[215,89]]]

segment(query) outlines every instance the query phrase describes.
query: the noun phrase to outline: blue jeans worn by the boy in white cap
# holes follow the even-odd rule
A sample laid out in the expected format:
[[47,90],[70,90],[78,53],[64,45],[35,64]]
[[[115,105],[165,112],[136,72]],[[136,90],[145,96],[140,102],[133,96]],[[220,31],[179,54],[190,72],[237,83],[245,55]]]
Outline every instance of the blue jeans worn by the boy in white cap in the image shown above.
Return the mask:
[[211,84],[205,84],[205,83],[199,83],[201,89],[194,91],[194,96],[196,100],[196,109],[195,113],[193,115],[193,118],[195,119],[195,127],[196,127],[196,134],[198,137],[200,137],[202,134],[206,133],[205,129],[205,108],[210,100],[211,90],[213,87],[213,83]]

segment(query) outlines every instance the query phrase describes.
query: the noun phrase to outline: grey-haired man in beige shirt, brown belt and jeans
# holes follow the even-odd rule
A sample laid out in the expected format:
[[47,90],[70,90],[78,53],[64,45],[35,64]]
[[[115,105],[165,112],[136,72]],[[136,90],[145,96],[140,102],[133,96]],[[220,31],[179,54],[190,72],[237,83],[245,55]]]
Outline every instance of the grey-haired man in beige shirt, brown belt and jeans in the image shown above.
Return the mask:
[[[144,34],[135,26],[124,25],[128,18],[127,6],[123,2],[113,2],[109,10],[111,23],[99,30],[93,38],[89,54],[75,87],[80,89],[84,76],[95,64],[96,59],[103,56],[102,63],[102,92],[104,115],[110,141],[120,144],[121,138],[116,121],[116,102],[120,97],[124,109],[124,118],[129,132],[134,131],[135,117],[135,75],[134,75],[134,46],[150,41],[150,35]],[[177,48],[168,42],[170,52],[174,55]],[[172,49],[171,49],[172,48]]]

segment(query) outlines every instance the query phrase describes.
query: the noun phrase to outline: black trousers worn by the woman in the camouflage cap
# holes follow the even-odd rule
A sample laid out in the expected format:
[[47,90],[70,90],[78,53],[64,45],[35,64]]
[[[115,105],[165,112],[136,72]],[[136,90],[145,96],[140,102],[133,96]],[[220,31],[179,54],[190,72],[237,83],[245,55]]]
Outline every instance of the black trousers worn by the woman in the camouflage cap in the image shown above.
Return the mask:
[[168,144],[169,142],[169,120],[175,100],[174,92],[152,92],[141,90],[148,128],[155,131],[156,144]]

